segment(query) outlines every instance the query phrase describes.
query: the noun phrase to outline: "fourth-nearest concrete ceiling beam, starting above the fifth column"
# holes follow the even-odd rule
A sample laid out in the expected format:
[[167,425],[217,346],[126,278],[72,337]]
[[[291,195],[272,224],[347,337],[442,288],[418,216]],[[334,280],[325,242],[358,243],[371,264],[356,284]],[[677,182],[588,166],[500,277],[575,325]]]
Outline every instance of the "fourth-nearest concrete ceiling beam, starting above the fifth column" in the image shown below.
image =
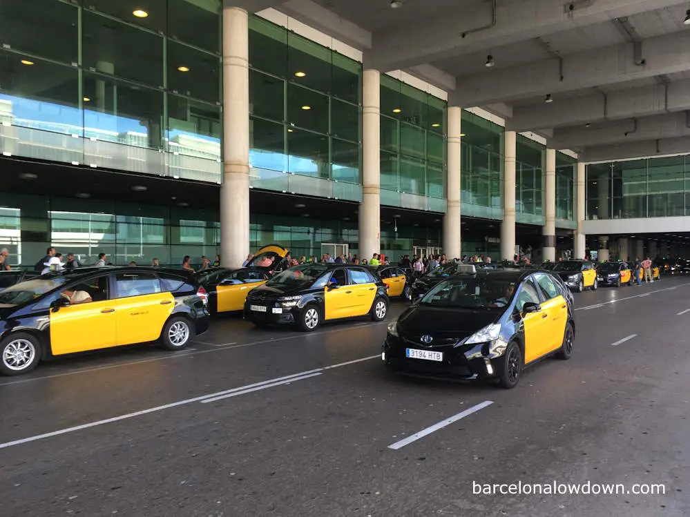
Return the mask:
[[686,136],[690,137],[690,112],[687,111],[617,120],[607,124],[595,124],[590,128],[559,128],[553,132],[553,145],[556,148],[582,148]]

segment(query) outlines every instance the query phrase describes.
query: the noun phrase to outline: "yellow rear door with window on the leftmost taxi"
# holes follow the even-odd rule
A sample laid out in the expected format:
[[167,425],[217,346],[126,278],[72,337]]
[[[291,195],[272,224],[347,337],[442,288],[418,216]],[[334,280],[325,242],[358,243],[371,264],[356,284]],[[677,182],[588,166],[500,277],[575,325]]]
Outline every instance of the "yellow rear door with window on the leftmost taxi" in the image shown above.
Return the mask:
[[161,292],[155,273],[115,275],[115,341],[117,345],[157,340],[175,307],[175,297]]

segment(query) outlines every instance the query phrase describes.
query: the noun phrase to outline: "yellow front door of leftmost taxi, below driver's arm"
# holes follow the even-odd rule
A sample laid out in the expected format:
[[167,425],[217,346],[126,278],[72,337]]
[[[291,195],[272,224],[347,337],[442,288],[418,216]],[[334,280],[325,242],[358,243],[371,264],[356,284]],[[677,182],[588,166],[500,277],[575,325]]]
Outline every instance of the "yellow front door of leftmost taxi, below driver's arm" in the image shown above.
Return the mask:
[[[104,286],[102,292],[107,298],[108,290],[105,286],[108,276],[99,277],[97,282]],[[94,292],[89,291],[89,294],[92,299],[98,300]],[[115,320],[115,300],[75,304],[60,307],[57,311],[51,309],[50,350],[53,355],[61,355],[114,347]]]

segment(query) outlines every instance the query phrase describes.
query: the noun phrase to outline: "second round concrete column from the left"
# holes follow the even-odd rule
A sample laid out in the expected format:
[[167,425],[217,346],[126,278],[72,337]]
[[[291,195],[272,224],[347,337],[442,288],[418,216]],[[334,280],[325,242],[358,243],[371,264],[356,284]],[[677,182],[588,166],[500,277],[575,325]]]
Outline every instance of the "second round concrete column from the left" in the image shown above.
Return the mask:
[[362,91],[362,180],[359,256],[369,260],[381,247],[381,72],[364,70]]

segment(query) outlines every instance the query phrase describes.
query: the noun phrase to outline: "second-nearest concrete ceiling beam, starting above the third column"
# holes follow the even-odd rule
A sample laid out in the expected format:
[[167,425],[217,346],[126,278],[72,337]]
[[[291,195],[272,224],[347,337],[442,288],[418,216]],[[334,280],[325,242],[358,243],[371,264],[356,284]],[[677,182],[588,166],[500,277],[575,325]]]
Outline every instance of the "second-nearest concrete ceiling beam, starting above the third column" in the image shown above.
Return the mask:
[[642,66],[634,62],[633,46],[622,43],[568,55],[562,70],[557,59],[546,59],[459,77],[456,94],[463,106],[481,106],[690,70],[690,30],[646,39]]

